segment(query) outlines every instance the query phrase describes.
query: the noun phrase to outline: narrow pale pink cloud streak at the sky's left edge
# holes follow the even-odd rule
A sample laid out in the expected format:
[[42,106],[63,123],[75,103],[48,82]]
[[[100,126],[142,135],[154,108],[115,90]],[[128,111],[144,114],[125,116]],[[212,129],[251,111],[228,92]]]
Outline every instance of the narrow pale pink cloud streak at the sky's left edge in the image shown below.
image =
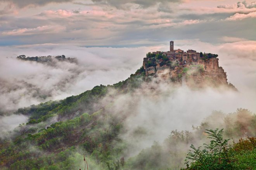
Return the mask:
[[14,29],[12,31],[2,32],[3,35],[10,36],[26,36],[32,34],[51,34],[51,33],[59,33],[65,30],[65,26],[40,26],[36,28],[21,28]]

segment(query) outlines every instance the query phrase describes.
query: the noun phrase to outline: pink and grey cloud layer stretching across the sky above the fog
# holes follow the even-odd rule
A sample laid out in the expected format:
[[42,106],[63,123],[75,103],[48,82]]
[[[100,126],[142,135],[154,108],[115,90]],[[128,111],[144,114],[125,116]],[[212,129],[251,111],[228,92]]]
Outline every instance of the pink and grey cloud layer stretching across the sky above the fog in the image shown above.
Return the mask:
[[[234,23],[225,20],[235,13],[248,14],[255,8],[225,9],[204,7],[200,3],[190,5],[192,2],[162,2],[167,1],[161,1],[161,4],[150,1],[150,4],[156,4],[142,8],[135,3],[144,1],[134,1],[129,10],[102,5],[102,1],[91,2],[89,6],[68,3],[27,8],[26,11],[18,9],[19,16],[3,15],[0,18],[0,34],[4,35],[0,45],[68,43],[128,47],[158,45],[168,41],[168,37],[200,38],[201,41],[214,43],[220,43],[223,36],[255,39],[251,36],[255,25],[251,20],[254,18],[236,20]],[[120,3],[126,4],[126,1]],[[171,12],[159,10],[160,6],[168,7]]]

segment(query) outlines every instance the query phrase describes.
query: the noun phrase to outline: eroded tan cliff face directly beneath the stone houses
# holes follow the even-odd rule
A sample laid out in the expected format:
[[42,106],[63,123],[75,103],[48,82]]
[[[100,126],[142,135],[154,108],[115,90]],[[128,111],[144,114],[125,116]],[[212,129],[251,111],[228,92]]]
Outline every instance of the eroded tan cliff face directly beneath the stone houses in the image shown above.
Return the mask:
[[199,59],[196,63],[183,65],[171,62],[169,65],[160,66],[160,63],[156,61],[155,65],[147,67],[148,60],[144,58],[143,62],[146,76],[161,77],[176,84],[186,81],[186,85],[190,88],[228,86],[227,74],[219,66],[218,58]]

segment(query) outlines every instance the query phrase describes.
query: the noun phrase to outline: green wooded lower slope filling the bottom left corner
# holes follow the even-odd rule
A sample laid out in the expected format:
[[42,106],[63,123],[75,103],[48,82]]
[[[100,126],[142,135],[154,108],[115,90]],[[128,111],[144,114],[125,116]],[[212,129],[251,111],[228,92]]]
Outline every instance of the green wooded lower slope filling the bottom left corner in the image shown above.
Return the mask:
[[107,163],[112,167],[114,158],[122,154],[125,147],[116,144],[120,141],[121,127],[116,118],[104,116],[102,111],[92,115],[84,113],[56,122],[38,133],[23,134],[12,143],[2,143],[6,147],[1,147],[0,162],[10,169],[79,169],[81,155],[88,153],[98,167],[105,168]]

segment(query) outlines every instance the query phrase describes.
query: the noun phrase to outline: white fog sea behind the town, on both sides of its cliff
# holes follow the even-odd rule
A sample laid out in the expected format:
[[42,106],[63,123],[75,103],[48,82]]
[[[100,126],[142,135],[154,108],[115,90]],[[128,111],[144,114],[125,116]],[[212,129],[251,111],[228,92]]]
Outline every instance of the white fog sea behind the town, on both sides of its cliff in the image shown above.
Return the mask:
[[[225,39],[234,40],[234,37]],[[256,84],[253,78],[256,76],[256,44],[255,41],[240,40],[220,45],[204,43],[198,39],[175,40],[175,46],[184,50],[217,53],[220,66],[228,74],[228,81],[239,90],[249,89]],[[164,51],[168,49],[168,43],[166,46],[139,48],[84,48],[49,44],[0,49],[3,52],[0,56],[0,106],[2,110],[10,110],[47,100],[63,99],[99,84],[114,84],[125,80],[142,65],[142,58],[147,52]],[[78,64],[55,61],[54,65],[48,65],[14,58],[21,54],[64,54],[66,57],[76,57]],[[45,83],[42,84],[42,81]]]

